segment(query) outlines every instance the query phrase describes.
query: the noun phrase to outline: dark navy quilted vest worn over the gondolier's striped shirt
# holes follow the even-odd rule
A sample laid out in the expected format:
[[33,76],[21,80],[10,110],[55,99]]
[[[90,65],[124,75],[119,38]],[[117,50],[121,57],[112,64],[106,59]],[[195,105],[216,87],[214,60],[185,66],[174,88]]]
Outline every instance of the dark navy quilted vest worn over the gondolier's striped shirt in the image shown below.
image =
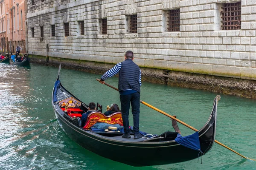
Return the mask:
[[125,59],[121,62],[122,67],[119,71],[118,90],[132,89],[140,93],[140,68],[132,59]]

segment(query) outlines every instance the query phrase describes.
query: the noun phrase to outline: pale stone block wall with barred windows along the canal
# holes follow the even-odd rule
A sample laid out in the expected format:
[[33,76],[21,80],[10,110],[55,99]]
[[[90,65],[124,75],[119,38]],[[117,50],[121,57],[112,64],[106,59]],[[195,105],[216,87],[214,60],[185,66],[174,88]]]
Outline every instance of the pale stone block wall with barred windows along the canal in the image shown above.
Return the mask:
[[[132,50],[141,67],[256,80],[256,1],[241,0],[241,29],[227,31],[220,27],[225,2],[238,0],[35,0],[34,6],[29,1],[29,54],[47,55],[48,44],[51,57],[117,63]],[[180,8],[180,31],[166,32],[163,14],[175,8]],[[126,34],[125,15],[131,14],[138,17],[137,34]],[[99,19],[106,17],[108,34],[101,35]]]

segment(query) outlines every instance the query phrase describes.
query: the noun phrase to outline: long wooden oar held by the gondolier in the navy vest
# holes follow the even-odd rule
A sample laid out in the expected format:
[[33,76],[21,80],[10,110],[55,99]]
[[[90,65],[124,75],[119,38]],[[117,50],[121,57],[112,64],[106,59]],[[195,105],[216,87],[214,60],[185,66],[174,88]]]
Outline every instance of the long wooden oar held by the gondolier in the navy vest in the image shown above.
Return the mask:
[[[102,82],[100,79],[96,79],[96,80],[99,81],[99,82]],[[115,89],[116,91],[118,91],[118,89],[115,88],[115,87],[113,87],[112,85],[109,85],[108,83],[105,83],[105,82],[104,82],[104,84],[107,85],[108,87],[111,87],[111,88]],[[192,127],[192,126],[186,124],[185,122],[182,122],[181,120],[175,118],[174,116],[171,116],[171,115],[169,115],[168,113],[165,113],[164,111],[161,111],[160,109],[155,108],[154,106],[149,105],[149,104],[146,103],[146,102],[143,102],[142,100],[140,100],[140,102],[141,102],[143,105],[146,105],[146,106],[148,106],[149,108],[152,108],[152,109],[154,109],[155,111],[158,111],[159,113],[162,113],[162,114],[168,116],[169,118],[175,119],[177,122],[181,123],[182,125],[184,125],[184,126],[186,126],[186,127],[189,127],[190,129],[195,130],[196,132],[198,131],[196,128],[194,128],[194,127]],[[218,142],[217,140],[215,140],[214,142],[217,143],[217,144],[219,144],[219,145],[221,145],[221,146],[223,146],[223,147],[225,147],[225,148],[227,148],[228,150],[232,151],[233,153],[238,154],[239,156],[243,157],[244,159],[250,159],[250,158],[247,158],[247,157],[241,155],[240,153],[236,152],[235,150],[231,149],[230,147],[227,147],[226,145],[222,144],[221,142]],[[256,161],[256,159],[250,159],[250,160]]]

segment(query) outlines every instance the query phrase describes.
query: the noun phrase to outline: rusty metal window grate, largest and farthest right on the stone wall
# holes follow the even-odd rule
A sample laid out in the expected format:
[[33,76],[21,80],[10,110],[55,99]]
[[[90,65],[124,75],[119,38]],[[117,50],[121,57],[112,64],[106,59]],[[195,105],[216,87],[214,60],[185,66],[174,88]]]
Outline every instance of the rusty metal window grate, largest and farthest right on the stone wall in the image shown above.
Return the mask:
[[222,30],[241,29],[241,2],[224,3],[221,8]]

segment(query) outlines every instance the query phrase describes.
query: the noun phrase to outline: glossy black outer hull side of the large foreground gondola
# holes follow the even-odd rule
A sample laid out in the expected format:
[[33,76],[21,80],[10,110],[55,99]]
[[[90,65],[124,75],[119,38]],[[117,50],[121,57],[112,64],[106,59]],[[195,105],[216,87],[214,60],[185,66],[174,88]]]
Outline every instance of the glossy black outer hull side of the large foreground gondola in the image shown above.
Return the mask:
[[132,166],[150,166],[171,164],[198,158],[199,151],[189,149],[176,142],[169,144],[169,146],[157,146],[154,144],[149,146],[146,144],[125,146],[120,142],[95,139],[95,136],[70,126],[69,122],[66,122],[63,117],[58,116],[58,113],[56,115],[62,129],[73,141],[93,153],[114,161]]

